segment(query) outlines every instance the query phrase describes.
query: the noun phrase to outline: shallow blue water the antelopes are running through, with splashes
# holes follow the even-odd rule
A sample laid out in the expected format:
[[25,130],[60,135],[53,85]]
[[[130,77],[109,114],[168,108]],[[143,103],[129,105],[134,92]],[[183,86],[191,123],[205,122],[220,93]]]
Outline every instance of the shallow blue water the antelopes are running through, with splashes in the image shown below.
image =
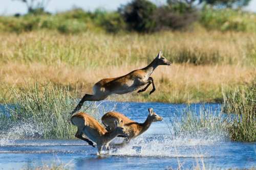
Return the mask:
[[[0,139],[0,169],[20,169],[53,162],[68,163],[71,169],[176,169],[179,165],[189,169],[197,164],[206,169],[256,166],[256,143],[231,142],[221,132],[173,136],[165,123],[172,126],[174,115],[178,117],[187,105],[104,102],[98,111],[114,108],[143,122],[149,107],[154,108],[164,122],[153,123],[148,131],[124,148],[112,146],[110,153],[98,157],[96,149],[80,140]],[[218,113],[221,106],[190,105],[195,114],[202,107]]]

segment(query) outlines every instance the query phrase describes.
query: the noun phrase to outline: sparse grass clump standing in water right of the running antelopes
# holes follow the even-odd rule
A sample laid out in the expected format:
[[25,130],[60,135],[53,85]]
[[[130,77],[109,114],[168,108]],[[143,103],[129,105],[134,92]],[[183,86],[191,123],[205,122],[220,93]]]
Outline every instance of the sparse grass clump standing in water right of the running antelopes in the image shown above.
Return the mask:
[[174,121],[175,135],[192,135],[194,137],[209,137],[219,135],[227,137],[229,116],[223,116],[211,108],[201,107],[199,114],[185,108],[176,116]]

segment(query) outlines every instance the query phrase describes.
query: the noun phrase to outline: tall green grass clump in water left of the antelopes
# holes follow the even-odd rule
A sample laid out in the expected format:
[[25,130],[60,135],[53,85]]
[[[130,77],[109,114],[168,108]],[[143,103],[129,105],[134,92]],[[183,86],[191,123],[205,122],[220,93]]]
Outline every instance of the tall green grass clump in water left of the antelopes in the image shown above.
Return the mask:
[[[0,123],[8,120],[9,125],[1,126],[1,130],[13,129],[17,125],[31,125],[39,131],[36,136],[39,138],[74,138],[76,127],[70,123],[69,112],[74,109],[77,101],[71,97],[68,88],[35,84],[34,87],[26,90],[12,92],[15,94],[14,106],[8,108],[8,117],[0,119]],[[89,108],[87,105],[84,106],[82,110],[86,109],[87,113],[98,119],[100,116],[97,115],[96,107],[92,104]]]

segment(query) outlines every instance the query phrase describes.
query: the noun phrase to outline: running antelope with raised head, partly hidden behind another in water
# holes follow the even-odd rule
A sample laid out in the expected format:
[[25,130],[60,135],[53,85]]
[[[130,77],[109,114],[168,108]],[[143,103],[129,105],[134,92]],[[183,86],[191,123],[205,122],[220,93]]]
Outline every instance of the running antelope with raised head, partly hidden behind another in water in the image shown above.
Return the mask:
[[122,122],[127,132],[128,137],[119,135],[118,137],[126,137],[126,142],[129,142],[132,138],[135,138],[145,132],[153,122],[162,121],[163,118],[153,112],[152,108],[148,108],[148,116],[144,123],[137,123],[130,118],[124,116],[118,112],[108,112],[101,117],[101,121],[107,130],[112,131],[116,128],[115,122]]

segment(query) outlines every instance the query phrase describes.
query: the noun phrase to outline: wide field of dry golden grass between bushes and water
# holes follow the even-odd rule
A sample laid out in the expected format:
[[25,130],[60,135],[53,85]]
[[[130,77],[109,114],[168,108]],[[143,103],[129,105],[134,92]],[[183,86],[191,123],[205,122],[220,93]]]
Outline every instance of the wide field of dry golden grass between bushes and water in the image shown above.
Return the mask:
[[152,75],[155,93],[132,93],[118,100],[216,102],[223,89],[255,79],[255,37],[204,30],[152,35],[0,33],[0,101],[12,100],[10,87],[26,89],[35,82],[91,93],[100,79],[141,68],[163,50],[174,64],[159,66]]

